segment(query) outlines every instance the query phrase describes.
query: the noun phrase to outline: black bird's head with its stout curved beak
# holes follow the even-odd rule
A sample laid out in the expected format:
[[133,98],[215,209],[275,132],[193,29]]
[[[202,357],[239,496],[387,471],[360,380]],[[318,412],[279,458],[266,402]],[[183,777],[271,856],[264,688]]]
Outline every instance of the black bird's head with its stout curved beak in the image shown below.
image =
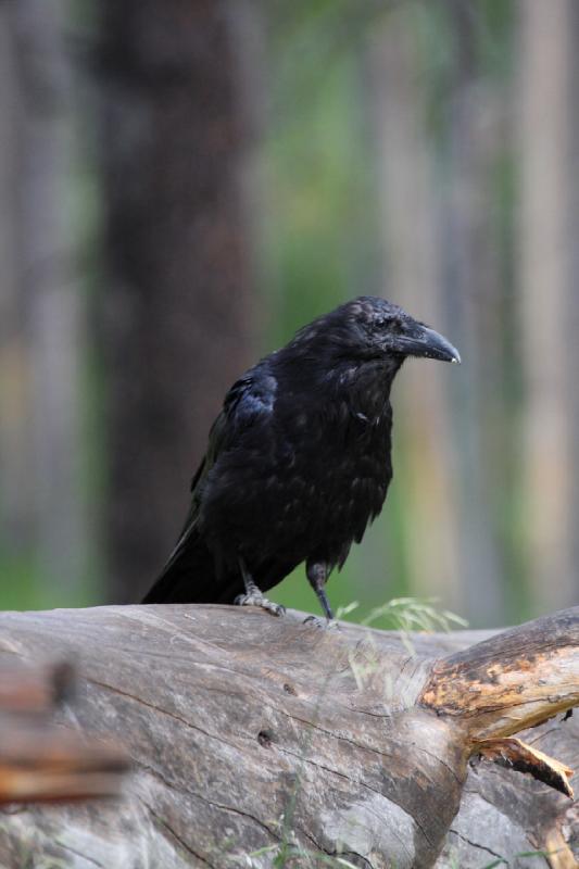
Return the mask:
[[398,305],[362,295],[328,315],[344,349],[361,358],[402,363],[406,356],[461,362],[458,351],[441,335]]

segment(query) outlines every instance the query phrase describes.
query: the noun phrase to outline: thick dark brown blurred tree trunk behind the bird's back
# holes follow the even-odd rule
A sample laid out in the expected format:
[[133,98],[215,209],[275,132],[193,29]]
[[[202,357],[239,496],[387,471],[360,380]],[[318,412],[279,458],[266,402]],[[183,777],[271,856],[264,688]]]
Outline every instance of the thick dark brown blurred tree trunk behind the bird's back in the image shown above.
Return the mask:
[[227,387],[250,362],[244,2],[104,0],[110,597],[167,556]]

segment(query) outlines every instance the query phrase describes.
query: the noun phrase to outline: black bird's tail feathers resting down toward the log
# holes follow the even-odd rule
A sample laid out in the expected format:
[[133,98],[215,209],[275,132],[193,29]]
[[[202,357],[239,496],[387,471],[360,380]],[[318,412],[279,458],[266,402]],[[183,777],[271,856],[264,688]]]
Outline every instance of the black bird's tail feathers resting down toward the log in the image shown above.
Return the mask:
[[217,571],[193,522],[181,536],[143,604],[232,604],[243,592],[239,571]]

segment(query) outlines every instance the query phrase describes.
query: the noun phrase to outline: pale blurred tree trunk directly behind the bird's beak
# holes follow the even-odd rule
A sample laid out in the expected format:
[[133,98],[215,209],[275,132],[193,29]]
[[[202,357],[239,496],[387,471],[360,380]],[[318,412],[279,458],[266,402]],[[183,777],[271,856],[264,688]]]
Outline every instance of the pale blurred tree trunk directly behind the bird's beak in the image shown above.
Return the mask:
[[[387,295],[446,331],[437,255],[437,200],[426,130],[427,93],[419,75],[414,10],[390,13],[374,34],[373,106],[379,143]],[[440,365],[408,363],[397,395],[397,486],[403,492],[405,559],[413,593],[435,594],[463,609],[453,431],[448,378]]]

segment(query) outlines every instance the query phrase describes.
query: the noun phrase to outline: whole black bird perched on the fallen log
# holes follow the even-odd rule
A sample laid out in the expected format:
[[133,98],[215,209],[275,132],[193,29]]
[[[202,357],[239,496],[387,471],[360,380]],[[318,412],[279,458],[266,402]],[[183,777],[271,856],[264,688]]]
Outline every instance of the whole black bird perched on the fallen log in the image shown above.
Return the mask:
[[438,332],[363,295],[302,328],[225,396],[191,483],[191,506],[143,603],[238,603],[301,562],[325,584],[380,513],[392,478],[390,388],[406,356],[460,362]]

